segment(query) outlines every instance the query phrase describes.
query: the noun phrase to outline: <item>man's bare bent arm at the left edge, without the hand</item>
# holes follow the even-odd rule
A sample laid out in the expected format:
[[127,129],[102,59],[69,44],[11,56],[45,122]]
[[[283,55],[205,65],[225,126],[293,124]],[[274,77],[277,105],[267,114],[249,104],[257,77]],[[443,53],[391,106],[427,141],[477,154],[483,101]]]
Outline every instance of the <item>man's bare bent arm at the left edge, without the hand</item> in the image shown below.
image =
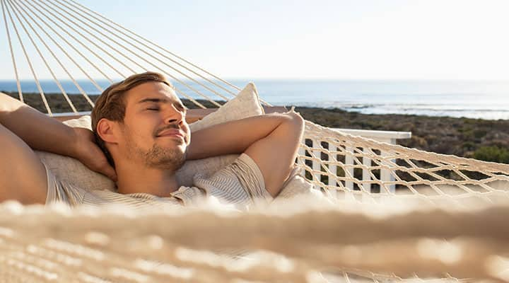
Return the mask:
[[83,152],[93,149],[86,131],[90,132],[68,127],[0,93],[0,202],[45,203],[46,172],[33,149],[83,161]]

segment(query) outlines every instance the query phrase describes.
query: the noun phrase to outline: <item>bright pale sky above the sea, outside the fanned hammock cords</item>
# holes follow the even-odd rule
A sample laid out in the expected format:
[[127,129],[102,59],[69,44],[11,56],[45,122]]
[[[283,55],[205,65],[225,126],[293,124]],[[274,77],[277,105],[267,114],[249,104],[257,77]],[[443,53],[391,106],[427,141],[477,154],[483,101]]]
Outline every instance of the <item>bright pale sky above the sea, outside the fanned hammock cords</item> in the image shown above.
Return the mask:
[[79,2],[226,79],[509,79],[506,0]]

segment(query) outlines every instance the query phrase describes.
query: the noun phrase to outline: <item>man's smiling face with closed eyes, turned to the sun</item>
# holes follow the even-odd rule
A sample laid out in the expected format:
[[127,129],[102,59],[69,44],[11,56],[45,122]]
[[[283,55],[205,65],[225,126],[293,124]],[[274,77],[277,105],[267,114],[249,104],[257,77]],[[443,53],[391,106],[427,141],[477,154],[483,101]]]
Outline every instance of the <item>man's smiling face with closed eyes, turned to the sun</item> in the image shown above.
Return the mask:
[[120,154],[149,168],[180,168],[191,135],[186,110],[175,91],[165,83],[142,83],[127,91],[125,105]]

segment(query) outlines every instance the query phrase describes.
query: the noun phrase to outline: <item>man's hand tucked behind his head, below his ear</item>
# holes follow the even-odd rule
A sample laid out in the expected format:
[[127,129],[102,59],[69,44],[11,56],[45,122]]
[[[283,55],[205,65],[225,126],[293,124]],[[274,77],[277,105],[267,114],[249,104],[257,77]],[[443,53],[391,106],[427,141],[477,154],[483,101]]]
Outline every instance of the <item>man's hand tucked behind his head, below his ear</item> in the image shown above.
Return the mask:
[[74,157],[85,164],[90,170],[106,175],[117,182],[115,169],[107,162],[103,151],[95,144],[94,134],[90,129],[73,128],[76,137]]

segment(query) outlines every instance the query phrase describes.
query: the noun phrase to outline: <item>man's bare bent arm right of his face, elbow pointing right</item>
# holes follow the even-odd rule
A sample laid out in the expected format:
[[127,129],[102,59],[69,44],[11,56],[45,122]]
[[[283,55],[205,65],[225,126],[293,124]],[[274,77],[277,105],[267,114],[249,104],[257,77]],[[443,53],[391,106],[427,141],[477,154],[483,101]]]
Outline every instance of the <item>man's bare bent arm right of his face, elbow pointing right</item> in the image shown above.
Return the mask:
[[296,112],[259,115],[201,129],[191,135],[188,159],[244,152],[257,163],[275,197],[293,168],[303,136]]

